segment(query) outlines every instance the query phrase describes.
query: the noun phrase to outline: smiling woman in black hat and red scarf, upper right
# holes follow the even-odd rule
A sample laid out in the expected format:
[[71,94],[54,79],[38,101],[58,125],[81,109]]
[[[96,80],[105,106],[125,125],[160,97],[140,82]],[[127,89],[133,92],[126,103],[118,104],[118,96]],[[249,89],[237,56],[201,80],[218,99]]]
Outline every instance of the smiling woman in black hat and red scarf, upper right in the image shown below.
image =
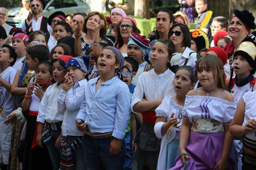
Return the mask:
[[233,54],[237,50],[237,47],[242,40],[251,33],[251,30],[256,29],[254,23],[254,16],[247,10],[239,11],[234,10],[234,16],[230,21],[228,34],[232,38],[232,41],[224,47],[224,50],[228,54],[229,65],[232,67]]

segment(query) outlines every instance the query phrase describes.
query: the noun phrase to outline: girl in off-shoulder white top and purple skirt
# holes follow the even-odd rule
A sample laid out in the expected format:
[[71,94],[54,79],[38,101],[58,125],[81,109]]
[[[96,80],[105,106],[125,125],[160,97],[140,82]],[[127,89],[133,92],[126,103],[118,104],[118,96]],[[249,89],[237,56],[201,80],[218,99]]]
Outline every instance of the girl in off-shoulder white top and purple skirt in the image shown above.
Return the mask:
[[184,164],[191,170],[233,169],[229,124],[236,104],[226,91],[223,64],[217,56],[205,55],[196,65],[196,75],[202,87],[189,91],[186,96],[180,157],[171,169],[183,169]]

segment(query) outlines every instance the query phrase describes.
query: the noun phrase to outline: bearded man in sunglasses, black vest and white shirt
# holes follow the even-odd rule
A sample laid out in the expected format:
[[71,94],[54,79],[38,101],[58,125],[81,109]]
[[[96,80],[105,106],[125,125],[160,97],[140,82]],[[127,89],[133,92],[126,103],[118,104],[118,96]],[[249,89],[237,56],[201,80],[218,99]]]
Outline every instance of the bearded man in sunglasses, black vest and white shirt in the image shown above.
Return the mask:
[[30,8],[31,12],[29,12],[28,18],[22,23],[22,31],[28,35],[37,30],[45,33],[51,32],[52,28],[47,24],[48,18],[42,15],[45,8],[44,0],[31,0]]

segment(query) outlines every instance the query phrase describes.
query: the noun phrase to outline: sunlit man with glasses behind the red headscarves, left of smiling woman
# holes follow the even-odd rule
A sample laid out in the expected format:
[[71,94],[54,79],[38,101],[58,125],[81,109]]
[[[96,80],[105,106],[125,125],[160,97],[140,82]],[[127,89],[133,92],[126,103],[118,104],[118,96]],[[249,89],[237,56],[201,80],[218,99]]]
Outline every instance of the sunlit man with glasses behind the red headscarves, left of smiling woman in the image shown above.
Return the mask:
[[211,47],[214,47],[213,36],[215,35],[215,33],[219,30],[224,30],[224,31],[228,30],[227,18],[223,16],[214,17],[212,19],[212,24],[210,28],[211,28],[212,36],[210,37],[209,42],[211,43]]

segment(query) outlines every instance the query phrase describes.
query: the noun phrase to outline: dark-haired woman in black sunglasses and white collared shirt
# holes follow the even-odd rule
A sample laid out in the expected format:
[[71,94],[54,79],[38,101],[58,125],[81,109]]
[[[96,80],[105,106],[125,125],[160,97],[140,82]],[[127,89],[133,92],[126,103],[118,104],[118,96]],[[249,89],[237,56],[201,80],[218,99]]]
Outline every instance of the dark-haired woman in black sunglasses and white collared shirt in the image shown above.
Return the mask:
[[188,27],[185,24],[175,23],[169,31],[170,39],[175,45],[175,52],[182,53],[179,66],[187,65],[193,67],[197,61],[196,52],[190,50],[191,37]]

